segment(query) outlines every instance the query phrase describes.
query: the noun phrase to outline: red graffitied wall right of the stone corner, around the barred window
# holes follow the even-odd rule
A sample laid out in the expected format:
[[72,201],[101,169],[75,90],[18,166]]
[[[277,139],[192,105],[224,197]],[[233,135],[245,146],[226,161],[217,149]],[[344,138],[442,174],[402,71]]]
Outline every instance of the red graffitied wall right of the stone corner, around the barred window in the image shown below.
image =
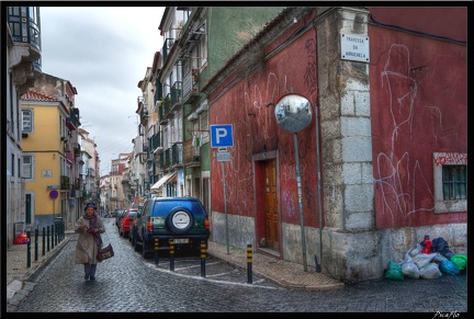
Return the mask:
[[[371,11],[385,24],[466,36],[456,9]],[[467,153],[466,46],[372,25],[369,36],[376,227],[466,223],[465,212],[433,212],[433,152]]]

